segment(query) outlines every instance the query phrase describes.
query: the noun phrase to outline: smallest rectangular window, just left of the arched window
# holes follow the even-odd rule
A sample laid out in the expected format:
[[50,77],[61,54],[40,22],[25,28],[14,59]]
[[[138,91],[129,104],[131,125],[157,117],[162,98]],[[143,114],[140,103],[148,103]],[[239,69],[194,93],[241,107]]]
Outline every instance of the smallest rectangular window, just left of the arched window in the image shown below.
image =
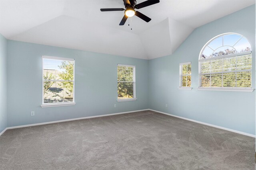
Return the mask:
[[191,90],[191,62],[180,63],[180,89]]

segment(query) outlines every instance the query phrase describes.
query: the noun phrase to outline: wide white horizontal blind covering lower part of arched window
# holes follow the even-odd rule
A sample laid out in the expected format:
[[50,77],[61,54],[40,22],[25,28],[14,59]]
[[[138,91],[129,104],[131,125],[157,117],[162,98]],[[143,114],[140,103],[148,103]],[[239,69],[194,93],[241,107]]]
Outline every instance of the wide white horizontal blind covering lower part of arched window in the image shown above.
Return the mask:
[[199,79],[199,88],[251,88],[251,51],[199,60]]

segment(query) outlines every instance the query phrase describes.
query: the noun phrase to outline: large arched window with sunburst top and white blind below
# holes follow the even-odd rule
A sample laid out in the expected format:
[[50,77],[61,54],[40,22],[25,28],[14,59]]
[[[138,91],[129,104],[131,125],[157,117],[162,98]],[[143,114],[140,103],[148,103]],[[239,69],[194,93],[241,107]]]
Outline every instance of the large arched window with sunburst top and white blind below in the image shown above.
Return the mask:
[[237,33],[214,37],[199,55],[200,90],[252,88],[252,51],[248,40]]

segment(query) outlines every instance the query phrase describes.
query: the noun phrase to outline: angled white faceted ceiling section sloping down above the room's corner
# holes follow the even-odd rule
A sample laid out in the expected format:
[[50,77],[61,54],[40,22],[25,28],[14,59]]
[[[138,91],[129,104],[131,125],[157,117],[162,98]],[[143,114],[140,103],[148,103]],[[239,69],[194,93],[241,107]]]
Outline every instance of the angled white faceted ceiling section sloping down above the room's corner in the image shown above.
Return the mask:
[[166,18],[139,34],[148,59],[171,55],[194,31],[194,28]]

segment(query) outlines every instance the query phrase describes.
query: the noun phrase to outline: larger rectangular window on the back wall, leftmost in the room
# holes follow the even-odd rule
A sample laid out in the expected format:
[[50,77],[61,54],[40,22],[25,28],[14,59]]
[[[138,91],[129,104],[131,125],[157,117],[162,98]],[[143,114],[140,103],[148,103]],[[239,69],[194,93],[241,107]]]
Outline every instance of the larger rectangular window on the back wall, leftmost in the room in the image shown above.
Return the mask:
[[43,104],[41,107],[74,105],[74,59],[42,56]]

